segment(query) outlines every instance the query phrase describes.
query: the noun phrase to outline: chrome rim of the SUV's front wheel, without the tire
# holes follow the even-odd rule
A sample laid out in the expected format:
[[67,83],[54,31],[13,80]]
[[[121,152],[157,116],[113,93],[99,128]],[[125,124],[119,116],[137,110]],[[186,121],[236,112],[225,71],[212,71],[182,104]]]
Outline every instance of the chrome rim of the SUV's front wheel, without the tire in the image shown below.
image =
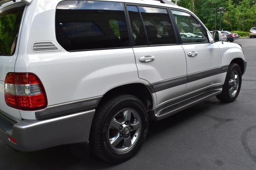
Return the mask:
[[239,88],[239,76],[236,70],[231,72],[231,76],[228,82],[228,90],[231,96],[235,96]]

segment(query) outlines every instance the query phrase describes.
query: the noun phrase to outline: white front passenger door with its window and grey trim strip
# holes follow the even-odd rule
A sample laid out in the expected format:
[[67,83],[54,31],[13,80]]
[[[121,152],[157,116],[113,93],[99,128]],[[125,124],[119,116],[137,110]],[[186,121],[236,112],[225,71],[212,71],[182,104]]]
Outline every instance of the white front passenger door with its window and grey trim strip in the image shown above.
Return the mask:
[[183,39],[182,47],[187,61],[188,84],[186,93],[220,84],[222,63],[220,49],[216,43],[210,43],[208,33],[200,21],[192,14],[182,10],[171,10],[180,34],[200,32]]

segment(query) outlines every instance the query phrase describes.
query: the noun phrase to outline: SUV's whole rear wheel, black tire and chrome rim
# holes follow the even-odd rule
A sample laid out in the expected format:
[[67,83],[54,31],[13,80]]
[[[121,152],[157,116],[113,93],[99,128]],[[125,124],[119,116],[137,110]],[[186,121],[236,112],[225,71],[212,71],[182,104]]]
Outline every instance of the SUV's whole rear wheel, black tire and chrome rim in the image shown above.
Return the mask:
[[128,94],[116,96],[96,109],[92,152],[106,162],[123,162],[138,152],[147,132],[148,113],[142,101]]

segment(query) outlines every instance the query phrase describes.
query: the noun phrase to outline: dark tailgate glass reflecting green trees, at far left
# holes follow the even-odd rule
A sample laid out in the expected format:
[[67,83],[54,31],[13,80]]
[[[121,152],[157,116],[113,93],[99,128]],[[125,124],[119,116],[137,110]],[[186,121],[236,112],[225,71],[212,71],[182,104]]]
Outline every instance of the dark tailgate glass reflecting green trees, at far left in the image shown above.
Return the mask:
[[24,8],[18,3],[0,10],[0,55],[14,55]]

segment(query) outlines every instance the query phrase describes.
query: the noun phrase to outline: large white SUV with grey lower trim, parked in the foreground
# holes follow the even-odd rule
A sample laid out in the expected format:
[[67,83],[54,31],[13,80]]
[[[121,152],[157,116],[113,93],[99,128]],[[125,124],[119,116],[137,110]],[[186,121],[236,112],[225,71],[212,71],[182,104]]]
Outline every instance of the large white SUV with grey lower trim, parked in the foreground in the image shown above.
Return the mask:
[[0,138],[17,150],[90,141],[122,162],[149,119],[234,101],[245,70],[239,45],[166,0],[0,0]]

